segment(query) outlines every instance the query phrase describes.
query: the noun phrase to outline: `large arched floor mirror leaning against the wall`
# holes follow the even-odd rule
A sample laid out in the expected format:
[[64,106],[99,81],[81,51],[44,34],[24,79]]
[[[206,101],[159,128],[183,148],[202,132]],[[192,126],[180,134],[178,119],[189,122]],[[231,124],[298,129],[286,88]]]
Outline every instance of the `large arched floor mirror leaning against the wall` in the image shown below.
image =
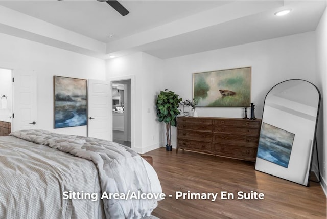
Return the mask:
[[320,92],[305,80],[273,86],[265,98],[255,170],[309,186]]

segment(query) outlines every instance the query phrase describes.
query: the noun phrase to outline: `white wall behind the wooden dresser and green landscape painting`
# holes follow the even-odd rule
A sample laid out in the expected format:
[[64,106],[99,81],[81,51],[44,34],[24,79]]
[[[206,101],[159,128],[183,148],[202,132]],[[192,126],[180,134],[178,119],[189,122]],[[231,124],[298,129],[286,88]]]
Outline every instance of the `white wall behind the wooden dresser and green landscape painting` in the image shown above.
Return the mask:
[[[251,100],[255,104],[255,116],[261,118],[264,98],[275,84],[288,79],[317,83],[315,32],[167,59],[163,83],[183,100],[192,99],[193,73],[247,66],[252,67]],[[243,108],[197,107],[197,112],[199,116],[243,117]],[[176,147],[176,128],[172,130]]]

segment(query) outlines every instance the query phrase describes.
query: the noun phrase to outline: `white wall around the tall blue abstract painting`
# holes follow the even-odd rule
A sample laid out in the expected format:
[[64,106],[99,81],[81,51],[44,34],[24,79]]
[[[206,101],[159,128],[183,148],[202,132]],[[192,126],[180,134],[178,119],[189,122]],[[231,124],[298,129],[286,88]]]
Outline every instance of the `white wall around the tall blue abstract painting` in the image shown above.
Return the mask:
[[85,136],[86,126],[53,129],[53,76],[105,80],[105,61],[6,34],[0,48],[0,68],[37,73],[37,127]]

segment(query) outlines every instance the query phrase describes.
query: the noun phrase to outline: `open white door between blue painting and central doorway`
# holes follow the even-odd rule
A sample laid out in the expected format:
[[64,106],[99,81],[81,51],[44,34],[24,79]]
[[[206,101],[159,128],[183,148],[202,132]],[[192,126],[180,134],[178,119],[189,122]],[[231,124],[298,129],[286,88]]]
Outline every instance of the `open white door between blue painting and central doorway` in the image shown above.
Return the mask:
[[110,82],[88,79],[87,98],[87,136],[111,141],[112,135],[109,132]]

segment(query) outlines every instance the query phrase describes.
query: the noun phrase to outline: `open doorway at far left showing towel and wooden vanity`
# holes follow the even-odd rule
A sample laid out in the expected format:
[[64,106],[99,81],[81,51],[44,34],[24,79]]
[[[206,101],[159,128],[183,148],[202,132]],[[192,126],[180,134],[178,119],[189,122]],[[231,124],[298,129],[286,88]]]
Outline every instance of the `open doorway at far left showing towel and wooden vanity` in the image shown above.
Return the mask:
[[0,136],[11,133],[12,100],[12,71],[0,69]]

